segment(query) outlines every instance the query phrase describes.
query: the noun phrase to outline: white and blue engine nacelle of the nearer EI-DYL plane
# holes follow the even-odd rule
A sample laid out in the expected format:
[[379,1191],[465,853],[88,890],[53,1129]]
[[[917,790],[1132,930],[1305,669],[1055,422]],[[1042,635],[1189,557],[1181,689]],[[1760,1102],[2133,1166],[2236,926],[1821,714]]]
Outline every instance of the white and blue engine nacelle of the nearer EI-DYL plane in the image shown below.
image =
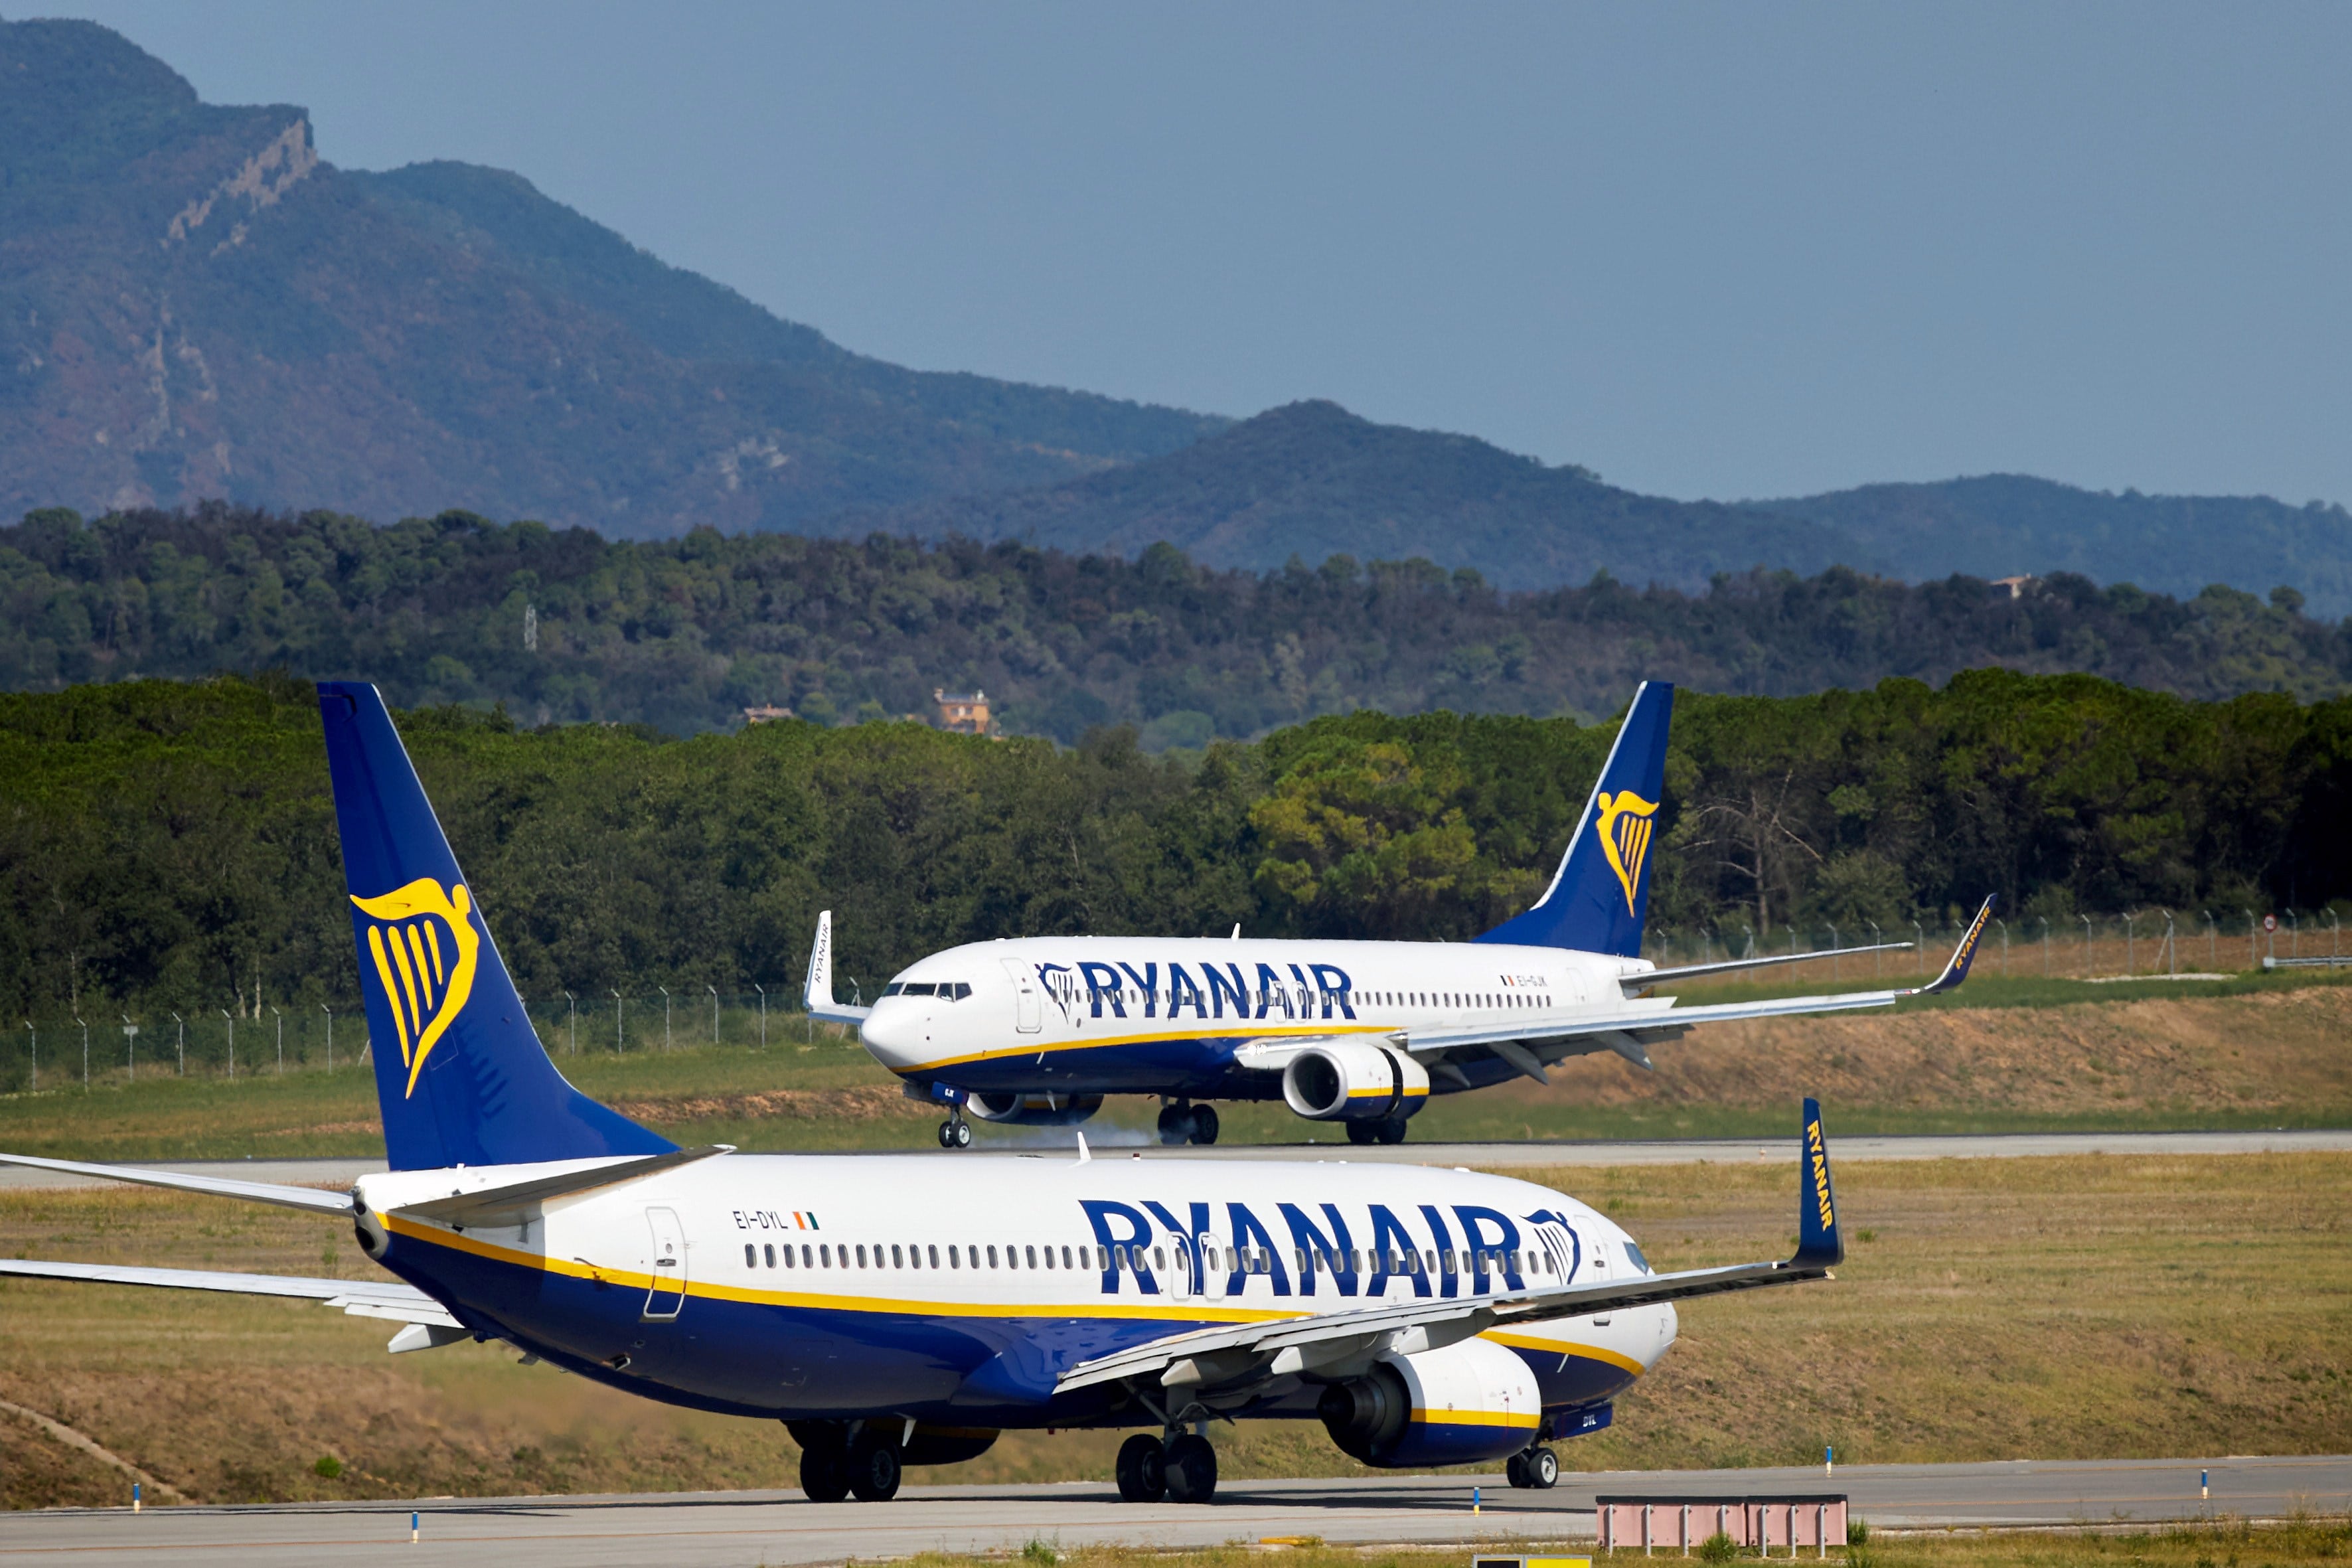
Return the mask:
[[1364,1465],[1477,1465],[1536,1441],[1543,1394],[1517,1354],[1463,1340],[1383,1356],[1362,1378],[1327,1387],[1315,1413],[1338,1450]]

